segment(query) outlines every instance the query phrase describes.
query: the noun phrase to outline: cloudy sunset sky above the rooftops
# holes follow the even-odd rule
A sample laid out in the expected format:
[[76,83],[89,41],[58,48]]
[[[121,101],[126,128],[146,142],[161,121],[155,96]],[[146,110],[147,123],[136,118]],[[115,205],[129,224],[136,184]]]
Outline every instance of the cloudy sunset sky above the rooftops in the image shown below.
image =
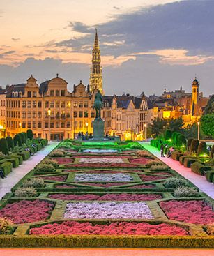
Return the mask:
[[105,94],[214,93],[213,0],[1,0],[0,86],[89,84],[98,29]]

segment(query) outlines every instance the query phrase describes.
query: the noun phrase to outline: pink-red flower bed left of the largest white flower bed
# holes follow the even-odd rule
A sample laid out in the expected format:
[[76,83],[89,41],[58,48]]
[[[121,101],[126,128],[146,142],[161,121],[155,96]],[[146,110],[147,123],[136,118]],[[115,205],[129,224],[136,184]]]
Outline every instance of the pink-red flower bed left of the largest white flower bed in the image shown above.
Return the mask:
[[42,200],[22,200],[13,204],[7,204],[0,210],[0,217],[9,218],[16,224],[33,223],[46,220],[53,208],[54,204]]

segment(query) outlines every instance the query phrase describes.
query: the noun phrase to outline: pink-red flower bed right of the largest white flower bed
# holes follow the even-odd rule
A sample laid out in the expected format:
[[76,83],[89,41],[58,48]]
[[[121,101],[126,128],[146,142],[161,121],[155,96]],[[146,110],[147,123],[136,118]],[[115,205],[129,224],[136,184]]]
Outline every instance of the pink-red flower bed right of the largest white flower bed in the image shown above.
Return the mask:
[[160,202],[160,206],[170,220],[193,224],[214,223],[214,211],[204,201]]

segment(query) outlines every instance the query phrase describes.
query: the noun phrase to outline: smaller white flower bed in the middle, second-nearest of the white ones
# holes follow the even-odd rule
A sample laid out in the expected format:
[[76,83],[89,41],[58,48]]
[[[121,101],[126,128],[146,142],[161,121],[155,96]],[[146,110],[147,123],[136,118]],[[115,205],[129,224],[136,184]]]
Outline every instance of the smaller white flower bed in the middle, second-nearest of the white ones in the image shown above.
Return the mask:
[[112,182],[112,181],[133,181],[133,177],[129,174],[86,174],[79,173],[75,175],[75,181],[100,181],[100,182]]

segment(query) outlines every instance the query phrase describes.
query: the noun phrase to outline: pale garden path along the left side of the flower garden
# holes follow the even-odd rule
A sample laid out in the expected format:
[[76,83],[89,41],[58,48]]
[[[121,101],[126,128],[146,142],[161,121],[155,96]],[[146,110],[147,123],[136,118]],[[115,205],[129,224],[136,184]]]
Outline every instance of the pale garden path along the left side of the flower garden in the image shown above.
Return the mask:
[[35,167],[40,160],[43,160],[47,154],[54,149],[59,142],[49,142],[44,149],[38,151],[34,156],[31,156],[28,160],[24,161],[22,165],[17,168],[13,168],[13,171],[7,175],[6,179],[0,179],[0,199],[6,193],[10,192],[10,189],[24,177],[33,167]]

